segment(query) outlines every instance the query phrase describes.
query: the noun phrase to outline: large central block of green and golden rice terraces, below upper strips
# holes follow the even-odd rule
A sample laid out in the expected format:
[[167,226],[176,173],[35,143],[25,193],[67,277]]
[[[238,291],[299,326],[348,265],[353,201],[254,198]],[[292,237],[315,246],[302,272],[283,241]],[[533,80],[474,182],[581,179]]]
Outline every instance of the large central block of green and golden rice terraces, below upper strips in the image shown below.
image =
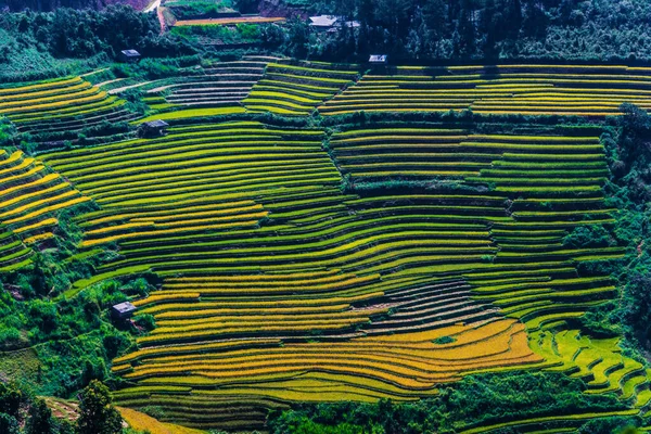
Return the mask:
[[[267,408],[414,399],[484,370],[562,369],[593,375],[591,393],[638,394],[646,372],[616,341],[586,337],[585,360],[557,343],[615,293],[577,264],[623,250],[563,243],[613,219],[598,138],[552,132],[348,129],[332,161],[322,130],[230,122],[47,155],[102,207],[78,219],[82,246],[123,255],[79,289],[164,279],[133,302],[157,327],[114,361],[132,382],[116,398],[188,426],[261,429]],[[346,194],[337,167],[353,186],[439,187]]]

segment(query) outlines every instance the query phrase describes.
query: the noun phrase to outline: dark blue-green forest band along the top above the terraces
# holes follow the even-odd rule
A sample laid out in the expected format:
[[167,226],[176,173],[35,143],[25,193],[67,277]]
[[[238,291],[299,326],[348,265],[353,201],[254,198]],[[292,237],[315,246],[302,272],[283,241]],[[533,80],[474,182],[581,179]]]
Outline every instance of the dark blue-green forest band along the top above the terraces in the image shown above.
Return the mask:
[[[334,62],[363,61],[378,52],[414,64],[651,60],[651,5],[644,0],[346,0],[318,1],[307,12],[345,16],[360,26],[319,34],[290,13],[294,17],[286,24],[246,31],[258,41],[256,50]],[[218,47],[199,42],[202,36],[199,30],[161,36],[155,14],[124,5],[3,14],[0,73],[61,74],[116,59],[127,47],[157,58],[218,54]]]

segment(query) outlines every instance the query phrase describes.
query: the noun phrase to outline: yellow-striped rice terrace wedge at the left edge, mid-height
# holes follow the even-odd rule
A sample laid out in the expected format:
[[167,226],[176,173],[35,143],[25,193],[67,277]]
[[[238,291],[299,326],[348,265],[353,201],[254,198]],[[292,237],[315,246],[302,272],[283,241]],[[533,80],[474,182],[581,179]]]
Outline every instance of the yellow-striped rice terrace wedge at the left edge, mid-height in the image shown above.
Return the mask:
[[31,246],[54,237],[55,215],[87,201],[39,159],[0,151],[0,271],[29,265]]

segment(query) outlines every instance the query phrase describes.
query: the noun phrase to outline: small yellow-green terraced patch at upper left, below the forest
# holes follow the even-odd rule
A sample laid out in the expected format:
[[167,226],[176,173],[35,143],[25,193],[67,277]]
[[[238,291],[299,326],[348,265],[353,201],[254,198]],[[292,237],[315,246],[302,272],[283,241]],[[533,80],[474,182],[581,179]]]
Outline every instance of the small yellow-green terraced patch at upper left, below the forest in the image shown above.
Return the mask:
[[69,132],[105,120],[131,120],[135,115],[124,104],[81,77],[0,86],[0,115],[21,132]]

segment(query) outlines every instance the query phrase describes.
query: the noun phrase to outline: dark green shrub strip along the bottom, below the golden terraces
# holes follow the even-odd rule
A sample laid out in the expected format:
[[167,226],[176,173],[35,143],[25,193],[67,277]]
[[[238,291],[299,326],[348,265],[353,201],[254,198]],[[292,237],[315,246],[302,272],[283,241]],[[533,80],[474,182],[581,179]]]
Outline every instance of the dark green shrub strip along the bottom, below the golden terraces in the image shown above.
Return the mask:
[[381,400],[378,404],[301,406],[272,414],[270,427],[275,434],[449,433],[462,426],[511,419],[625,408],[615,396],[585,395],[584,388],[580,380],[561,373],[471,375],[441,390],[433,398],[414,403],[396,405]]

